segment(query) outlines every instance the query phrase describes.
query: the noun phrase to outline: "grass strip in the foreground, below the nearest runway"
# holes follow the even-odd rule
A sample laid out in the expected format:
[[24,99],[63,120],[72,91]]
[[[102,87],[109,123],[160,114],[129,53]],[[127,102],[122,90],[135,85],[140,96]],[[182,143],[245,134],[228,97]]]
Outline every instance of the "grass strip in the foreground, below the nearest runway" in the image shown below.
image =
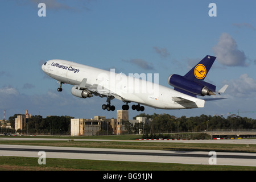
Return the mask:
[[38,158],[0,156],[0,170],[35,171],[256,171],[256,167],[193,165],[172,163],[117,162],[103,160],[46,159],[46,165],[39,165]]

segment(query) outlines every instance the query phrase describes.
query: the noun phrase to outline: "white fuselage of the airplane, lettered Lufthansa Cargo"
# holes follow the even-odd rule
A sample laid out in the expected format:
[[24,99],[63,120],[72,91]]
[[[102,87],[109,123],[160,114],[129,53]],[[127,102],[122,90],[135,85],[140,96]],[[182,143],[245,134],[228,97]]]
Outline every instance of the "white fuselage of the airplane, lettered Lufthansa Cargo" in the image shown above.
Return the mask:
[[[49,60],[42,65],[43,71],[55,80],[96,90],[101,97],[114,96],[123,102],[135,102],[158,109],[191,109],[204,107],[204,100],[177,92],[174,89],[121,73],[106,71],[65,60]],[[184,98],[194,102],[177,102]]]

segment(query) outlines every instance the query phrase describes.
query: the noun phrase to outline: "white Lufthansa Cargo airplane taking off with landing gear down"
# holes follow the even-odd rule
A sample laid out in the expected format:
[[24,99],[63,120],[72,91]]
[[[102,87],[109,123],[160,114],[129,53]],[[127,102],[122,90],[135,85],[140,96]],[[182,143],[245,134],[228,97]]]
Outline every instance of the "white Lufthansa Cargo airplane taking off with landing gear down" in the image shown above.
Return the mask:
[[[224,85],[219,92],[216,86],[203,81],[207,76],[216,57],[205,56],[186,75],[170,75],[168,84],[174,89],[152,83],[151,81],[126,76],[122,73],[105,71],[65,60],[49,60],[42,65],[43,71],[60,84],[58,92],[62,91],[62,84],[74,85],[71,93],[76,97],[87,98],[94,96],[106,97],[107,104],[102,109],[115,110],[110,101],[114,98],[125,102],[123,110],[129,109],[129,103],[135,102],[132,109],[144,111],[144,106],[157,109],[191,109],[204,107],[205,101],[223,98],[197,98],[196,96],[210,96],[224,93],[228,85]],[[157,79],[156,79],[157,80]]]

